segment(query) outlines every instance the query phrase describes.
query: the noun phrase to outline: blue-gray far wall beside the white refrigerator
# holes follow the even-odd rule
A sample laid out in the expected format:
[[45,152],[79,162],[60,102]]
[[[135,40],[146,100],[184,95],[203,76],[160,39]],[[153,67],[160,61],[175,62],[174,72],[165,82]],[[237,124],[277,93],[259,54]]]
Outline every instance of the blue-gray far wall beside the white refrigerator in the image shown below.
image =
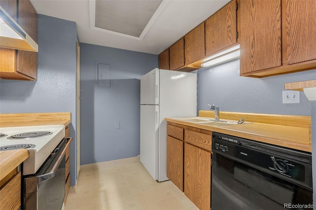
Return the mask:
[[[97,62],[111,87],[95,84]],[[80,43],[80,165],[140,154],[139,79],[157,67],[158,55]]]

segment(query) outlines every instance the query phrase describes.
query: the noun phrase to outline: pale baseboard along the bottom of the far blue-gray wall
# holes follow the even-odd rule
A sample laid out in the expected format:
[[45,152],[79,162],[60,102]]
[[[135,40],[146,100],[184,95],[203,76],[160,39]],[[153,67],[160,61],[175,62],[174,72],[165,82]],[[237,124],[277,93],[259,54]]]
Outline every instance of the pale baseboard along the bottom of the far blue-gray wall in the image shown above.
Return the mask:
[[139,161],[140,161],[140,156],[137,156],[137,157],[118,159],[118,160],[105,161],[105,162],[100,162],[100,163],[86,164],[86,165],[80,166],[80,172],[89,171],[93,169],[101,169],[101,168],[106,168],[106,167],[111,167],[111,166],[119,166],[119,165],[124,165],[128,163],[135,163]]

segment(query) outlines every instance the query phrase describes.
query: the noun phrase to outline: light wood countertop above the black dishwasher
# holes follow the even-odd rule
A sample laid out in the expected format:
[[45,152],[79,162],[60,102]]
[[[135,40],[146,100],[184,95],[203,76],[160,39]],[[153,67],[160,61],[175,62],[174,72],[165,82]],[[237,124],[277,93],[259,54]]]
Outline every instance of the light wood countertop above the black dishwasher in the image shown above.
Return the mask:
[[258,122],[227,126],[210,126],[199,123],[186,122],[174,118],[165,118],[165,121],[212,132],[232,135],[249,140],[256,140],[260,142],[271,143],[288,148],[312,152],[310,126],[294,127],[288,125],[276,125]]

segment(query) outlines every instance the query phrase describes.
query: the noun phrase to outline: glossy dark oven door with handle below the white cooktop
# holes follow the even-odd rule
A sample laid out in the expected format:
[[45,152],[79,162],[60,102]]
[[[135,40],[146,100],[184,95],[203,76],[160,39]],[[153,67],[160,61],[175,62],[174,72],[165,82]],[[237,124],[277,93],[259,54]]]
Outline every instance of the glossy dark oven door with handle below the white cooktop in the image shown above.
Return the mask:
[[65,197],[63,139],[35,175],[24,177],[24,210],[60,210]]

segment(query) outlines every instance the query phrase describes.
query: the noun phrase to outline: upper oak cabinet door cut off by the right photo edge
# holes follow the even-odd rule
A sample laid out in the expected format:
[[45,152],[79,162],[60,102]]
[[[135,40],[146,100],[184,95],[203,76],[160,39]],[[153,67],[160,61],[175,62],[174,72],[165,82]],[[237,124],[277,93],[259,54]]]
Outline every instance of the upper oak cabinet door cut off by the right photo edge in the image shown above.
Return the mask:
[[286,0],[287,64],[316,59],[316,0]]

